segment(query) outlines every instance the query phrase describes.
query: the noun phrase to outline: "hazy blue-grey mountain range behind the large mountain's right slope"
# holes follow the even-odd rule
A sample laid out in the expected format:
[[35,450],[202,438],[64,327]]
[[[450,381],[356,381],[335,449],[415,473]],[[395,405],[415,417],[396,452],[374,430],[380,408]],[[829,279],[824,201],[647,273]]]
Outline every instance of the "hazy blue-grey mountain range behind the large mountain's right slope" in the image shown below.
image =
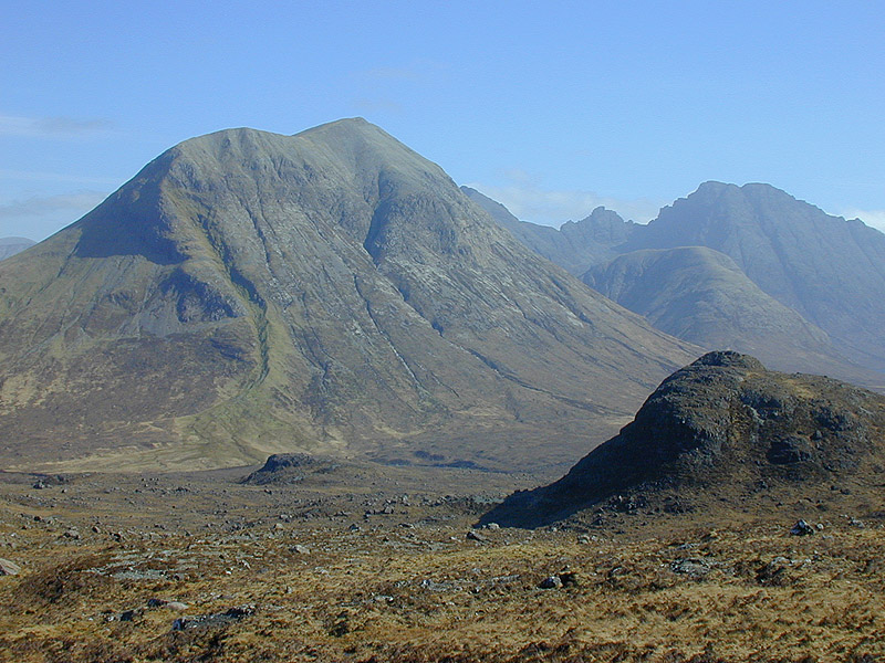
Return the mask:
[[[659,329],[781,370],[885,387],[885,234],[769,185],[707,182],[642,225],[602,208],[514,236]],[[496,207],[497,206],[497,207]]]

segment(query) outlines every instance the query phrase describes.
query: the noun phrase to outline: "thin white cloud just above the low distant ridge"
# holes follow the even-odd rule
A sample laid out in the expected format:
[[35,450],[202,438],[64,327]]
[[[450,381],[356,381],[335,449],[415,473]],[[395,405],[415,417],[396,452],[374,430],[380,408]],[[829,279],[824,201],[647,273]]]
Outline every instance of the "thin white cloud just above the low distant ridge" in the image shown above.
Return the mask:
[[600,196],[594,191],[545,189],[530,176],[513,170],[508,172],[509,183],[503,186],[467,185],[497,200],[522,221],[560,227],[565,221],[587,217],[597,207],[616,211],[624,219],[647,223],[657,217],[662,204],[647,199],[623,200]]

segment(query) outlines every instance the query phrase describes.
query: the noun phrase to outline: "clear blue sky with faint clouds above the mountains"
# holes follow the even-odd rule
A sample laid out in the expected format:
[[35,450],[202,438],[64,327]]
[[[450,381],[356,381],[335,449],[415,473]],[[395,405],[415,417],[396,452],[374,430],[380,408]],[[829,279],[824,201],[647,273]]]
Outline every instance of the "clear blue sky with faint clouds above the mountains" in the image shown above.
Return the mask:
[[354,116],[538,223],[719,180],[885,230],[883,34],[852,0],[0,0],[0,238],[189,137]]

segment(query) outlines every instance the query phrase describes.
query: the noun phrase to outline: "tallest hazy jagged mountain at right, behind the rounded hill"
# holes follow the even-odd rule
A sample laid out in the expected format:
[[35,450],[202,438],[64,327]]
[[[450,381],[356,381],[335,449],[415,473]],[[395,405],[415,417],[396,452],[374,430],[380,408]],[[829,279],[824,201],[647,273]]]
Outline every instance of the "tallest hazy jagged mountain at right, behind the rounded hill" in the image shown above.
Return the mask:
[[708,246],[824,329],[850,359],[885,370],[885,234],[769,185],[707,182],[620,248]]

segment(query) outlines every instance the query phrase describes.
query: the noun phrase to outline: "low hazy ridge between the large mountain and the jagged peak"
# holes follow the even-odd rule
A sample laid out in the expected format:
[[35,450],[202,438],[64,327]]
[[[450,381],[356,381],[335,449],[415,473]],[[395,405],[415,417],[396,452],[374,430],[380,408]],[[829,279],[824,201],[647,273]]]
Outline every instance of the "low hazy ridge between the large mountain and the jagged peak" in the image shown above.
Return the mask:
[[602,207],[581,221],[566,221],[559,229],[538,225],[520,221],[500,202],[476,189],[461,187],[461,190],[525,246],[575,276],[592,265],[615,257],[617,251],[614,248],[625,243],[637,227]]

